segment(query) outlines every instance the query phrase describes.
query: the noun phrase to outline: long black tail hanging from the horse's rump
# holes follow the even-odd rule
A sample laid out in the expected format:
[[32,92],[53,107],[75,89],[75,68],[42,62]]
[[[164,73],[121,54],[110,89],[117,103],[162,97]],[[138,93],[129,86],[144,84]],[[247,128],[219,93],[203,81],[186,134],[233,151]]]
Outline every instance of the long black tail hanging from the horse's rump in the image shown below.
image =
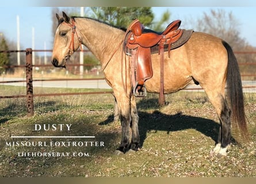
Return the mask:
[[228,53],[228,70],[227,70],[227,99],[231,108],[231,122],[239,127],[244,138],[249,139],[249,133],[244,113],[244,99],[242,90],[242,81],[240,77],[238,62],[228,43],[223,41],[224,47]]

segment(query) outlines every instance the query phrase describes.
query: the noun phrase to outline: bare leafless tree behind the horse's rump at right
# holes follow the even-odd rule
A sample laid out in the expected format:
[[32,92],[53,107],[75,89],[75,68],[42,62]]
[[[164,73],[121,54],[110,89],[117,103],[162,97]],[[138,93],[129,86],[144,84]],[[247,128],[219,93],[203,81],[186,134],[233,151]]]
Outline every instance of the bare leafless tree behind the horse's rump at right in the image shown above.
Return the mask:
[[[254,51],[239,32],[239,21],[233,16],[232,12],[227,13],[223,9],[211,10],[204,13],[202,18],[197,20],[196,30],[220,37],[231,45],[233,51]],[[253,54],[236,54],[238,63],[255,63],[256,58]],[[255,68],[242,65],[239,66],[241,74],[255,74]],[[251,80],[251,78],[249,78]]]

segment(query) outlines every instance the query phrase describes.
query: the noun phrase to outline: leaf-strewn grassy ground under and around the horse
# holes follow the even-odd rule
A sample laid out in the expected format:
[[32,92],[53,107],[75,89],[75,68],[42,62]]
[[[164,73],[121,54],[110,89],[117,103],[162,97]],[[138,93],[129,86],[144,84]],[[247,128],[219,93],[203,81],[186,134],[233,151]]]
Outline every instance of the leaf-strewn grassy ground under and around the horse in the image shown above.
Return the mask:
[[[23,88],[24,89],[24,88]],[[23,93],[22,87],[0,86],[0,95]],[[52,90],[52,91],[51,91]],[[58,91],[56,91],[58,90]],[[87,91],[42,89],[35,93]],[[25,99],[1,99],[1,177],[256,177],[256,95],[245,94],[251,140],[244,143],[233,131],[225,158],[210,155],[219,120],[204,93],[180,91],[166,95],[167,105],[158,106],[158,95],[137,98],[142,148],[114,155],[120,143],[120,122],[113,122],[111,94],[37,97],[35,116],[26,117]],[[71,131],[35,131],[35,124],[72,124]],[[10,136],[82,136],[89,139],[30,138]],[[6,141],[29,141],[39,146],[6,146]],[[104,147],[72,146],[67,142],[104,142]],[[65,146],[49,146],[65,143]],[[81,153],[83,156],[18,156],[18,152]]]

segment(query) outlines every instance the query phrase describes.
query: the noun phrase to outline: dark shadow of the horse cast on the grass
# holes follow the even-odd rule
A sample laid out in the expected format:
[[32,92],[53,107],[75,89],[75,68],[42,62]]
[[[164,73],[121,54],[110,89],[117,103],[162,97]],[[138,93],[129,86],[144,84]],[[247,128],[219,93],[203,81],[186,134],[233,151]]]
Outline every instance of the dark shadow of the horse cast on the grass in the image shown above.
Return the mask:
[[[150,103],[150,101],[152,103]],[[145,102],[145,101],[144,101]],[[146,104],[157,104],[157,100],[148,99]],[[145,109],[144,103],[137,104],[138,109]],[[156,105],[157,106],[157,105]],[[151,106],[152,108],[152,106]],[[152,131],[166,131],[166,133],[183,131],[186,129],[195,129],[207,137],[211,137],[215,143],[219,135],[220,124],[202,117],[194,117],[178,112],[176,114],[163,114],[159,110],[152,113],[147,113],[139,110],[139,133],[140,145],[143,146],[146,140],[147,133]],[[113,123],[114,115],[110,115],[105,121],[100,122],[99,125],[106,125]],[[235,139],[231,137],[232,143],[236,143]]]

